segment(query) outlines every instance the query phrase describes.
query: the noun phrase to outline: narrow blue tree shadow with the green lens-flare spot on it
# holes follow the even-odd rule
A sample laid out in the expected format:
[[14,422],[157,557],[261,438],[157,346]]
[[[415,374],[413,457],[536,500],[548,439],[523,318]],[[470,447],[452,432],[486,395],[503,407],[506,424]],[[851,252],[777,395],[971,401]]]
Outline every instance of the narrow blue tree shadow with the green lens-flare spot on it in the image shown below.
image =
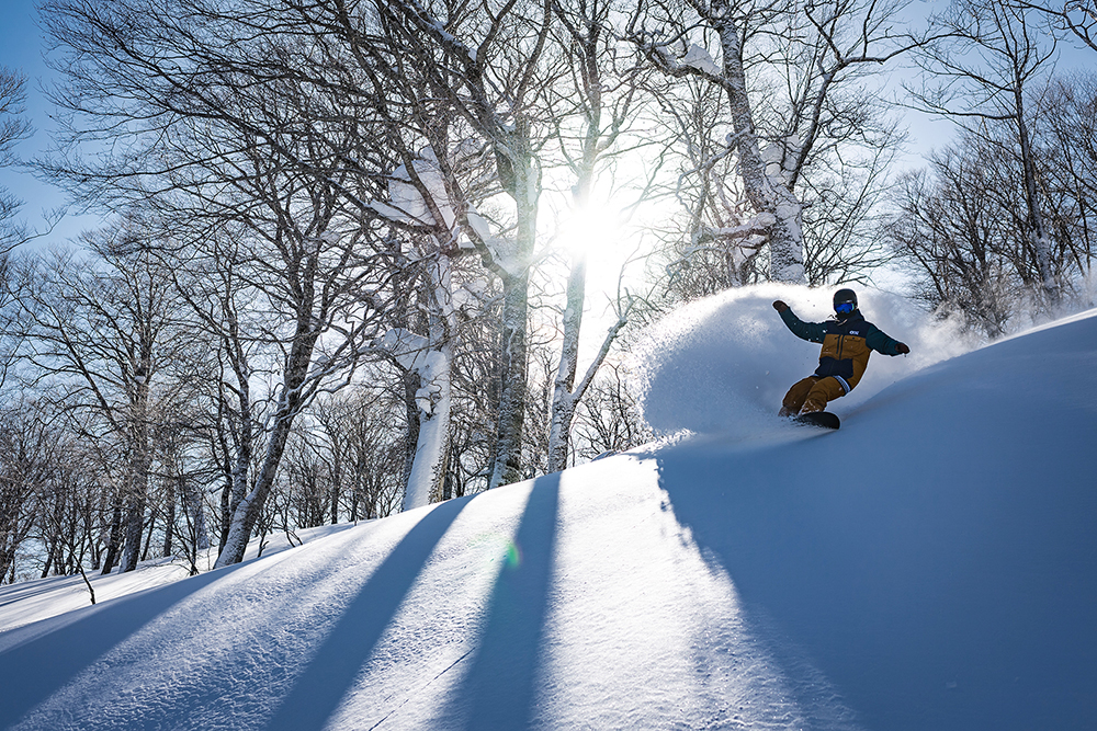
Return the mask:
[[514,536],[518,560],[499,572],[479,647],[454,696],[459,728],[505,731],[533,720],[558,513],[559,473],[538,479]]

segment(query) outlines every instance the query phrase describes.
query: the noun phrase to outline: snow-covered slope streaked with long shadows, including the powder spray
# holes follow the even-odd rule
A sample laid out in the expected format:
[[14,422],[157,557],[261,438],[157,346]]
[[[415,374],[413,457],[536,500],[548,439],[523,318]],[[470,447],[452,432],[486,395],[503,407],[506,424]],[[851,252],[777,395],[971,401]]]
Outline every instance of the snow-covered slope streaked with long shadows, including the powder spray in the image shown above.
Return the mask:
[[823,432],[770,294],[652,347],[697,434],[2,632],[0,728],[1097,728],[1097,312],[917,370],[870,312]]

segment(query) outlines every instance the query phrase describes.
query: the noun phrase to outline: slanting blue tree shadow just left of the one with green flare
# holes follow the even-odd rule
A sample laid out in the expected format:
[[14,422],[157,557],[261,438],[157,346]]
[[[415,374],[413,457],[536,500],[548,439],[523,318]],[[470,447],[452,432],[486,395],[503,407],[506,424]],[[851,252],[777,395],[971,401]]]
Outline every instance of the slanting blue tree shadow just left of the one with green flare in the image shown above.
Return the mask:
[[419,571],[468,498],[425,515],[359,591],[268,723],[270,731],[321,729],[350,690]]

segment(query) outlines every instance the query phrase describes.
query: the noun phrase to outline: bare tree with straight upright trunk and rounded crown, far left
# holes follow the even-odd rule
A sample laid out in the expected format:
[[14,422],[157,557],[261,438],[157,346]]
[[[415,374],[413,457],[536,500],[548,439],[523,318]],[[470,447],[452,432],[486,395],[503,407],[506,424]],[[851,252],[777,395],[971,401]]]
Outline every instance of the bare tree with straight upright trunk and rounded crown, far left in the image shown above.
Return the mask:
[[[154,429],[152,385],[181,346],[178,301],[166,272],[139,251],[133,226],[86,239],[92,258],[58,254],[29,262],[21,313],[27,327],[29,376],[49,378],[87,437],[114,441],[123,465],[113,533],[124,540],[122,570],[137,566],[148,499]],[[120,535],[117,532],[122,530]],[[113,568],[113,540],[103,570]]]

